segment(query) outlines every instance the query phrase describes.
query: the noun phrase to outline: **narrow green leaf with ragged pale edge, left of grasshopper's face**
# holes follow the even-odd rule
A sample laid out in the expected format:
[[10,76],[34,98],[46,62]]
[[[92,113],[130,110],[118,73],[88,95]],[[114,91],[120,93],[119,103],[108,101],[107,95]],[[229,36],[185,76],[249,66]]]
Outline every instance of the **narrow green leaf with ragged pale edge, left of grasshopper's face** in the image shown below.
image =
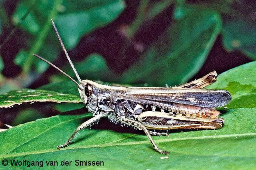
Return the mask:
[[0,95],[0,107],[11,107],[26,102],[80,103],[79,96],[46,90],[20,89]]

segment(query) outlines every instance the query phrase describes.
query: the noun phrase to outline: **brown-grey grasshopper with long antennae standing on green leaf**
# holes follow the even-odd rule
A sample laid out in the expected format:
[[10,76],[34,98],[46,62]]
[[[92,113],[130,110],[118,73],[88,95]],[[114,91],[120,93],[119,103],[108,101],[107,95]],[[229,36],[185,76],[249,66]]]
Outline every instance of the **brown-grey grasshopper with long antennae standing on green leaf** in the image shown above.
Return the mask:
[[46,59],[33,55],[70,78],[78,86],[85,107],[93,115],[78,126],[68,141],[57,149],[70,145],[78,131],[102,117],[143,130],[154,150],[161,154],[169,152],[159,149],[151,135],[169,135],[155,130],[220,129],[224,124],[224,120],[218,118],[220,112],[216,108],[230,102],[230,93],[226,90],[202,90],[216,82],[216,72],[172,88],[106,86],[92,80],[81,80],[53,21],[52,25],[79,83]]

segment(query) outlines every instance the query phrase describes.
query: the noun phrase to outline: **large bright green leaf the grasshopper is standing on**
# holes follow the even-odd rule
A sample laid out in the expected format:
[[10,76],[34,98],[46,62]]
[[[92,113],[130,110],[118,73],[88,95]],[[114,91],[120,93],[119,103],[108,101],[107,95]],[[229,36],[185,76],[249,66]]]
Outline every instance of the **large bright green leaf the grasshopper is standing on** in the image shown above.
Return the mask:
[[84,114],[39,119],[0,133],[0,159],[9,161],[7,167],[14,159],[42,160],[49,169],[48,160],[57,161],[57,169],[63,168],[62,160],[72,161],[68,168],[78,168],[75,160],[98,160],[104,161],[106,169],[168,169],[170,165],[173,169],[254,169],[256,107],[248,107],[247,102],[255,99],[255,91],[250,90],[256,86],[255,69],[256,62],[233,68],[210,87],[230,90],[233,96],[228,109],[220,110],[225,119],[222,129],[171,131],[168,138],[153,137],[161,149],[170,151],[168,157],[154,151],[146,135],[120,133],[120,125],[115,125],[119,132],[109,127],[81,131],[70,146],[57,150],[80,123],[90,119],[90,114]]

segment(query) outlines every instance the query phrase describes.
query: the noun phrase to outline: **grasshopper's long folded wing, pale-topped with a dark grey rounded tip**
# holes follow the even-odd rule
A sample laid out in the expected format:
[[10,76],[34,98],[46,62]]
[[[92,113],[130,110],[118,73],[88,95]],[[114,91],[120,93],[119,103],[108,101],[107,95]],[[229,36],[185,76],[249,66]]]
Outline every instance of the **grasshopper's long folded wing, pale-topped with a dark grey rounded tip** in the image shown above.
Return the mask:
[[231,95],[226,90],[131,87],[127,88],[119,98],[159,107],[175,103],[214,109],[228,104]]

